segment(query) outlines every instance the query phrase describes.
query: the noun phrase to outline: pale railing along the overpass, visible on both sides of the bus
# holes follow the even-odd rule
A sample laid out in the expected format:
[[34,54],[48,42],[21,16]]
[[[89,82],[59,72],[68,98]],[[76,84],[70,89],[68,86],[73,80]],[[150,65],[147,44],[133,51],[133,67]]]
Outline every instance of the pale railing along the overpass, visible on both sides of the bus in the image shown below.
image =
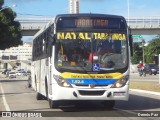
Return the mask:
[[[52,16],[18,17],[22,29],[40,29],[51,21]],[[127,19],[131,28],[160,28],[160,16],[131,16]]]

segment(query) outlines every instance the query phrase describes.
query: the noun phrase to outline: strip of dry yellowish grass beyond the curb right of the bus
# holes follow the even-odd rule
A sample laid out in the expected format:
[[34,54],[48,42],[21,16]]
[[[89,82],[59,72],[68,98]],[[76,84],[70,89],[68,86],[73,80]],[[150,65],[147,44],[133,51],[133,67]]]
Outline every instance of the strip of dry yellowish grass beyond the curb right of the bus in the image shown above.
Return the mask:
[[160,92],[160,84],[157,82],[130,82],[131,89],[140,89],[147,91]]

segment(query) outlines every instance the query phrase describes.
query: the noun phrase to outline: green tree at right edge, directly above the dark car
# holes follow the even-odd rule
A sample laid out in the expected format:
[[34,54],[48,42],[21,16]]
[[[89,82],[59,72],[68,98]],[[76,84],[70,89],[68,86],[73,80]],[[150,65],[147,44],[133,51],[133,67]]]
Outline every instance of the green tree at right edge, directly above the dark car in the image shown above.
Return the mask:
[[145,47],[144,53],[146,63],[153,63],[154,56],[160,54],[160,36],[149,42],[148,46]]

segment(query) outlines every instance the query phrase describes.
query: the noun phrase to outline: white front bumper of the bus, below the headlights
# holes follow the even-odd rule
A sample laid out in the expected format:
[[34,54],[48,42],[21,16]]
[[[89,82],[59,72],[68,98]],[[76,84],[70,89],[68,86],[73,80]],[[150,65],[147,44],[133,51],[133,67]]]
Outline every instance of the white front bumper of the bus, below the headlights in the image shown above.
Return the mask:
[[52,86],[51,100],[128,100],[129,86],[122,88],[66,88]]

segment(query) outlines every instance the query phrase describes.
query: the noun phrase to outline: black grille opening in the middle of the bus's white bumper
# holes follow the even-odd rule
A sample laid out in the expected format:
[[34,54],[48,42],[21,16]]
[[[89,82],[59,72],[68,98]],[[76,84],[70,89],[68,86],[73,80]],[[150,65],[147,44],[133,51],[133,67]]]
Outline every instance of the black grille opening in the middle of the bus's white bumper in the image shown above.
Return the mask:
[[88,96],[100,96],[103,95],[105,90],[99,90],[99,91],[85,91],[85,90],[79,90],[80,95],[88,95]]

